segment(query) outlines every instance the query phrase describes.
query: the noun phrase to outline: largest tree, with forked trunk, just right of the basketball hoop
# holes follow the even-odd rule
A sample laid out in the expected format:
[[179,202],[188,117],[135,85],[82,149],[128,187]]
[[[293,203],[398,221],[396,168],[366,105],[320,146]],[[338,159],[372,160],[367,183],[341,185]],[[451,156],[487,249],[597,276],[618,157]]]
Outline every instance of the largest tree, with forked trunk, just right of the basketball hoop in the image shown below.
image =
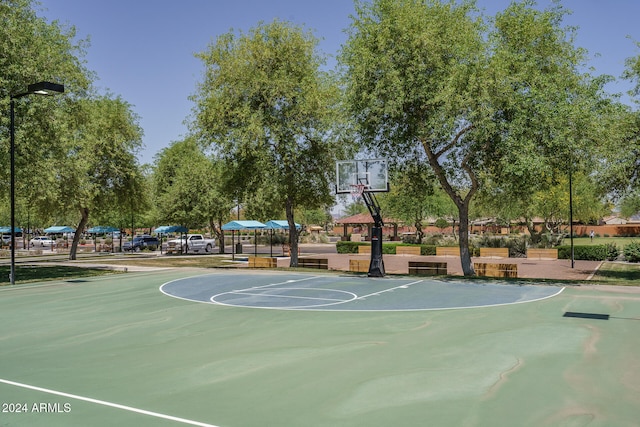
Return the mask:
[[[533,5],[512,3],[487,22],[469,1],[357,2],[340,55],[363,144],[400,159],[422,149],[455,203],[465,275],[478,190],[493,180],[524,192],[560,170],[558,154],[566,170],[567,137],[597,94],[583,89],[597,85],[576,71],[584,51],[559,25],[564,11]],[[572,140],[571,151],[585,147]]]

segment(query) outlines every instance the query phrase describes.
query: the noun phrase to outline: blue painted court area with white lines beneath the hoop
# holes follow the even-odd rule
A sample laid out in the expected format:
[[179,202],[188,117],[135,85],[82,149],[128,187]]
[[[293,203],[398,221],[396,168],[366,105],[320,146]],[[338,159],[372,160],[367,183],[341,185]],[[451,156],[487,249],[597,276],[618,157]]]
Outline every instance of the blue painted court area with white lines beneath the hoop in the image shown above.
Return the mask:
[[414,311],[539,301],[564,288],[448,279],[234,273],[178,279],[160,290],[184,300],[244,308]]

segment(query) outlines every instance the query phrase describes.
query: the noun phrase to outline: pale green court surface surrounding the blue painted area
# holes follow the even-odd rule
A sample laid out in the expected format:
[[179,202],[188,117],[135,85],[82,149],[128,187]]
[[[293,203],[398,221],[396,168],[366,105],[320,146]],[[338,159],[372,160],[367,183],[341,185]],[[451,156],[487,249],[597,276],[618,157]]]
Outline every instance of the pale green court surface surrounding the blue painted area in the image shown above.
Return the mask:
[[[415,279],[331,274],[303,288],[278,274],[0,287],[0,426],[639,425],[639,288],[442,282],[431,292]],[[168,283],[209,297],[174,298],[160,290]],[[508,293],[515,301],[490,304]],[[393,308],[304,307],[359,296]],[[298,302],[274,307],[281,298]],[[380,303],[437,298],[482,306]]]

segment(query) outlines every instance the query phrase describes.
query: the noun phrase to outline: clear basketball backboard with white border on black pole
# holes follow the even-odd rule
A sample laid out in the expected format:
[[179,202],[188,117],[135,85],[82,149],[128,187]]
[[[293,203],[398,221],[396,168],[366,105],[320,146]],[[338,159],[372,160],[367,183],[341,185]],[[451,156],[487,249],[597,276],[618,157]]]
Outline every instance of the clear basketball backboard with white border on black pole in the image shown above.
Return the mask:
[[364,191],[389,191],[387,161],[384,159],[340,160],[336,162],[336,193],[349,194],[357,185]]

